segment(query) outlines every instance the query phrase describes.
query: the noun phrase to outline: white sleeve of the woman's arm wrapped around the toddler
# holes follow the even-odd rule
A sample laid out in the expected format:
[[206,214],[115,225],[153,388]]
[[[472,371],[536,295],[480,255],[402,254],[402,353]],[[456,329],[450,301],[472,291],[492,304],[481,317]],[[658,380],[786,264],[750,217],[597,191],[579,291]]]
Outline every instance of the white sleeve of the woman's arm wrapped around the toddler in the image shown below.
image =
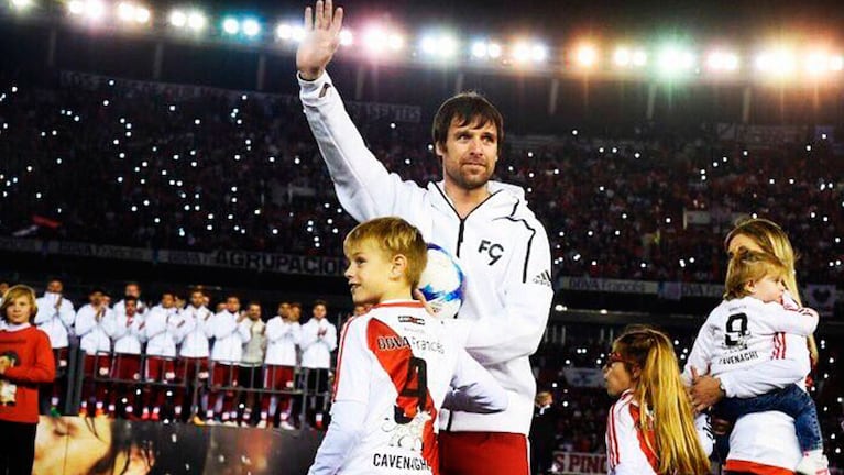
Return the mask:
[[811,371],[805,338],[793,334],[779,338],[785,342],[781,357],[719,375],[726,397],[749,398],[805,378]]

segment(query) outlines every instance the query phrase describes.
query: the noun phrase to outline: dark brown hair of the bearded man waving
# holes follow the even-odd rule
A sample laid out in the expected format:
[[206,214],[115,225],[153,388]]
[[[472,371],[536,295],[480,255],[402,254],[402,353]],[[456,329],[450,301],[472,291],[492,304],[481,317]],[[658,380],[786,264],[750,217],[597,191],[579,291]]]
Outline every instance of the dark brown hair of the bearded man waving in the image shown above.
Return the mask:
[[501,154],[501,147],[504,143],[504,118],[485,97],[474,91],[467,91],[442,102],[431,125],[431,136],[435,144],[441,147],[446,146],[448,129],[454,121],[458,122],[458,126],[473,123],[478,126],[484,126],[492,122],[495,125],[498,154]]

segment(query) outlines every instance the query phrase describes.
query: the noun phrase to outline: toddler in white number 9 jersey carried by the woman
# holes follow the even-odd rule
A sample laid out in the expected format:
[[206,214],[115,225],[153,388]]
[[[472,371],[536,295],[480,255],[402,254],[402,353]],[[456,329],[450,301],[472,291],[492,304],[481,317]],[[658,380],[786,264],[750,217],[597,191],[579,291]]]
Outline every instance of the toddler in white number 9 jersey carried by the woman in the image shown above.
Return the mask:
[[[818,327],[818,313],[797,309],[785,294],[786,267],[774,255],[741,248],[730,261],[724,301],[710,313],[689,356],[684,376],[710,371],[713,376],[785,357],[785,333],[808,336]],[[783,296],[787,307],[783,306]],[[753,398],[727,398],[715,407],[716,413],[736,420],[753,412],[780,411],[794,419],[803,460],[800,474],[822,474],[827,462],[818,412],[803,380]],[[727,437],[717,441],[724,460]]]

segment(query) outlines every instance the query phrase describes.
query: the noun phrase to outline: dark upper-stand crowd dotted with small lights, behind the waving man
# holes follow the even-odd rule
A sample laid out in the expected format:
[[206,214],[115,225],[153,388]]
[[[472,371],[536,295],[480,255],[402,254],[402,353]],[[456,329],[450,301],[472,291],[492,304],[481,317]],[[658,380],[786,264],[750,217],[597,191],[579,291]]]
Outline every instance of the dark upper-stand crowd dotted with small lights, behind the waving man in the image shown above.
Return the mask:
[[[427,124],[354,119],[388,169],[440,175]],[[721,140],[714,124],[561,131],[534,146],[505,140],[496,175],[525,188],[563,275],[719,281],[725,230],[757,214],[793,236],[801,281],[834,283],[844,174],[832,132],[814,132],[760,147]],[[288,96],[7,81],[0,155],[3,235],[338,256],[353,225]],[[701,211],[710,223],[689,218]]]

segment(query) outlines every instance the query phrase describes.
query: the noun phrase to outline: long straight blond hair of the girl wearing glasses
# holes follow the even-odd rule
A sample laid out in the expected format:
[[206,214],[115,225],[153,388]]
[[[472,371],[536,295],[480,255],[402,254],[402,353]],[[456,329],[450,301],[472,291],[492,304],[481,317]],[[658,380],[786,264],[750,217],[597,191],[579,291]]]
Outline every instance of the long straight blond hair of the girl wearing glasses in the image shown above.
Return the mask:
[[[668,336],[647,327],[628,329],[613,343],[625,368],[638,379],[634,398],[642,408],[638,430],[653,431],[657,473],[709,474],[710,463],[694,428],[694,416]],[[648,438],[644,438],[650,445]]]

